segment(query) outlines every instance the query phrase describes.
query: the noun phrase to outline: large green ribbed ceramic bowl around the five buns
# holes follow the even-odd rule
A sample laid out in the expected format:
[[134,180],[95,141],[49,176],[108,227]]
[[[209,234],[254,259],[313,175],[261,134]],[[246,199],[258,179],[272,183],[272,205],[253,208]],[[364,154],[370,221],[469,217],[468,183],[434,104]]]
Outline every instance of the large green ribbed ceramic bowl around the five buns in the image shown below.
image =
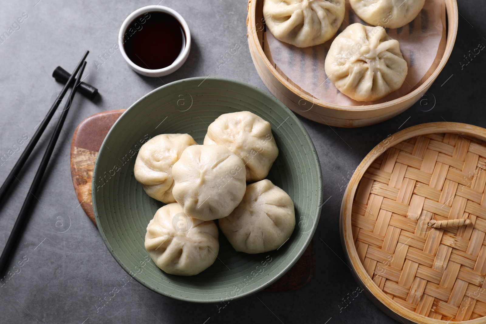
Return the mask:
[[[220,232],[214,264],[195,276],[161,271],[144,248],[148,222],[163,204],[135,180],[140,143],[148,136],[188,133],[203,143],[208,125],[221,114],[247,110],[272,125],[278,158],[268,175],[295,204],[295,231],[277,251],[236,252]],[[216,303],[255,293],[286,273],[312,239],[322,205],[322,174],[309,134],[272,95],[243,82],[191,78],[161,86],[135,102],[104,139],[93,172],[93,209],[106,247],[139,283],[162,295]],[[149,260],[148,262],[146,260]]]

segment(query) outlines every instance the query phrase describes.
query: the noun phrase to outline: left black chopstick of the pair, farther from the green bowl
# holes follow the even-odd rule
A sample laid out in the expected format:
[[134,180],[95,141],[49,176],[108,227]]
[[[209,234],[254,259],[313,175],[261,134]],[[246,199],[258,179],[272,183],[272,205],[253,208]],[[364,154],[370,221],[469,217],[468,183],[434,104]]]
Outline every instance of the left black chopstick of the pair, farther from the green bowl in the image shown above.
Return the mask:
[[10,171],[7,178],[5,178],[5,181],[3,182],[3,184],[0,188],[0,202],[3,200],[3,198],[5,198],[5,195],[8,191],[8,189],[10,188],[10,186],[12,186],[14,179],[16,179],[18,172],[20,172],[20,169],[22,169],[22,167],[24,166],[25,161],[27,161],[27,158],[29,157],[30,153],[32,153],[32,150],[34,150],[35,144],[37,144],[37,141],[39,140],[40,136],[42,135],[42,133],[46,129],[47,124],[51,120],[51,118],[54,115],[57,107],[59,106],[62,99],[64,98],[64,95],[66,94],[66,92],[68,92],[69,87],[74,82],[75,76],[78,73],[79,68],[81,68],[81,65],[83,64],[84,60],[86,59],[88,53],[89,53],[89,51],[86,51],[84,53],[83,58],[81,59],[81,61],[79,61],[78,65],[76,66],[76,68],[72,72],[71,76],[69,77],[68,81],[66,82],[66,85],[64,85],[64,87],[62,88],[61,93],[57,97],[56,101],[52,104],[51,109],[47,113],[46,117],[44,117],[44,119],[42,119],[42,121],[40,122],[39,128],[37,128],[37,130],[35,131],[34,136],[32,136],[32,139],[30,140],[30,142],[27,143],[27,146],[25,147],[24,152],[22,152],[22,154],[18,158],[17,163],[15,164],[14,168],[12,169],[12,171]]

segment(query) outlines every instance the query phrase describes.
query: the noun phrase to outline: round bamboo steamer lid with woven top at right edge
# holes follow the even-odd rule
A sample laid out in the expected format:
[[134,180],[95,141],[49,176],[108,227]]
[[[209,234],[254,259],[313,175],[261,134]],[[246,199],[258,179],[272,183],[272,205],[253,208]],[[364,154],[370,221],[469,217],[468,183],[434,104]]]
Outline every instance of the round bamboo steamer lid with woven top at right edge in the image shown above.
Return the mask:
[[[347,186],[340,232],[377,307],[403,323],[486,322],[485,187],[481,127],[417,125],[366,155]],[[471,223],[428,226],[463,219]]]

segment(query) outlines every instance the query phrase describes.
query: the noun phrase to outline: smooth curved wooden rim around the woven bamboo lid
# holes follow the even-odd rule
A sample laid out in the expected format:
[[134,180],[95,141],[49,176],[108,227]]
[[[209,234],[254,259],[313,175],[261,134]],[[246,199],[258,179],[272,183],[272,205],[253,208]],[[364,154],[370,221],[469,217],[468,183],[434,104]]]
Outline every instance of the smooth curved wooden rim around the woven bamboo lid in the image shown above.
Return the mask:
[[[364,173],[380,155],[386,152],[386,150],[388,150],[389,148],[392,148],[395,145],[403,141],[409,140],[413,137],[429,135],[429,134],[437,134],[437,133],[458,134],[459,136],[461,135],[471,136],[476,139],[486,141],[485,128],[464,124],[464,123],[458,123],[458,122],[447,122],[447,121],[432,122],[432,123],[419,124],[416,126],[406,128],[391,136],[392,138],[390,140],[388,140],[388,138],[390,138],[388,137],[382,142],[380,142],[377,146],[373,148],[373,150],[370,151],[370,153],[368,153],[364,157],[363,161],[356,168],[356,171],[353,173],[351,179],[349,180],[341,204],[340,223],[339,223],[341,243],[343,245],[343,250],[347,258],[347,263],[352,267],[352,271],[354,271],[354,273],[352,273],[353,276],[355,276],[355,279],[357,279],[357,281],[359,281],[362,284],[366,282],[368,283],[367,285],[364,285],[364,292],[368,297],[371,297],[371,301],[377,307],[381,308],[381,310],[385,312],[387,315],[389,315],[390,317],[392,317],[392,315],[389,312],[391,310],[393,313],[395,313],[395,315],[398,314],[401,317],[401,319],[407,321],[408,323],[446,324],[449,322],[419,315],[405,307],[400,306],[397,302],[392,301],[385,294],[385,292],[383,292],[373,282],[373,280],[370,278],[370,276],[364,269],[364,266],[357,255],[357,250],[355,247],[355,242],[351,231],[351,210],[352,210],[352,205],[353,205],[356,190],[358,188],[361,179],[363,178]],[[384,151],[383,151],[383,145],[384,145]],[[373,299],[373,297],[375,299]],[[459,323],[459,322],[454,321],[451,323]],[[484,324],[485,317],[468,320],[468,321],[460,321],[460,323]]]

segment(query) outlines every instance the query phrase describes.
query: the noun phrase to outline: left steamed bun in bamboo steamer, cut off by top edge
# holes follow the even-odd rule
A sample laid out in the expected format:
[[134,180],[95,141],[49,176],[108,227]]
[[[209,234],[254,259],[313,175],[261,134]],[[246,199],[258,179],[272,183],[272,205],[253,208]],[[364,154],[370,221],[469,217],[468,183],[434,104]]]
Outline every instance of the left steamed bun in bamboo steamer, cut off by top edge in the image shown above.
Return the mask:
[[263,15],[270,32],[296,47],[331,39],[343,22],[345,0],[264,0]]

